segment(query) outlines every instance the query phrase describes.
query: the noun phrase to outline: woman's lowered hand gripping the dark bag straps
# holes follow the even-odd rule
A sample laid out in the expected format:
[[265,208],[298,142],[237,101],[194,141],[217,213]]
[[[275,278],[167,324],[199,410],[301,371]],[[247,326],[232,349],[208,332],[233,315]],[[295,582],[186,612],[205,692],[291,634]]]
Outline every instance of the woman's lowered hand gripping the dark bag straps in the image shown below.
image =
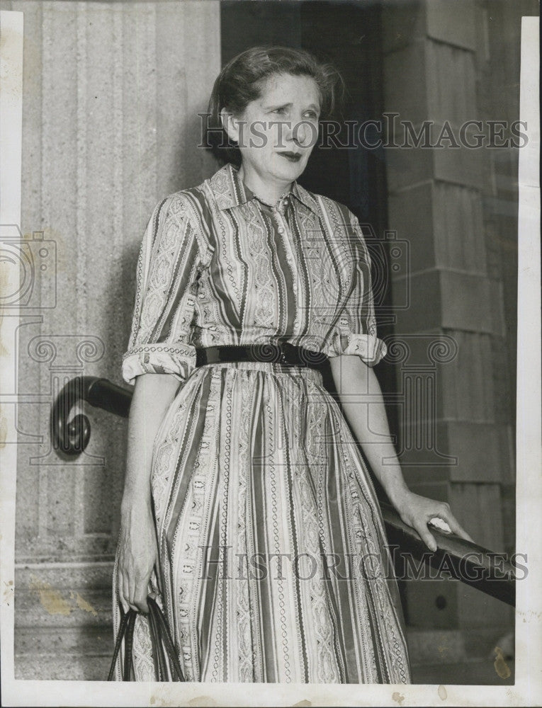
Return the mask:
[[149,612],[149,580],[157,563],[157,540],[150,510],[130,508],[120,524],[117,587],[123,610]]

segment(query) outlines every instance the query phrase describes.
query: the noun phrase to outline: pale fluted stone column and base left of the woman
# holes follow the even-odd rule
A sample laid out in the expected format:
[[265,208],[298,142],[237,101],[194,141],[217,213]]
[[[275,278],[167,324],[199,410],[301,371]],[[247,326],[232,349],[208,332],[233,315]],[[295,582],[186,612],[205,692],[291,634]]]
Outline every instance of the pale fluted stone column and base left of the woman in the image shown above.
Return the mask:
[[[159,199],[215,164],[196,147],[220,70],[220,6],[13,1],[25,19],[22,230],[45,249],[21,312],[16,677],[105,678],[126,421],[89,409],[89,447],[52,450],[77,375],[117,384],[135,265]],[[30,243],[31,242],[31,243]]]

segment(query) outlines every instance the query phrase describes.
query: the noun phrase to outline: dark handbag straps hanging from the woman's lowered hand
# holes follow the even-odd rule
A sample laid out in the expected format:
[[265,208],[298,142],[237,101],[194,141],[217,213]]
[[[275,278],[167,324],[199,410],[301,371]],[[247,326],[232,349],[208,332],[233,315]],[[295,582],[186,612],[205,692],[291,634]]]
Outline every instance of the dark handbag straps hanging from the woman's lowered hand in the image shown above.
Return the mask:
[[[152,595],[147,598],[149,605],[149,630],[152,641],[152,657],[154,659],[154,672],[157,681],[184,681],[183,671],[179,657],[175,651],[169,627],[166,619],[160,610],[157,601]],[[107,680],[112,681],[115,674],[115,664],[117,663],[120,646],[124,641],[124,661],[123,661],[123,681],[132,680],[132,648],[134,638],[135,618],[138,612],[128,610],[124,612],[120,619],[117,641],[113,651],[113,660]]]

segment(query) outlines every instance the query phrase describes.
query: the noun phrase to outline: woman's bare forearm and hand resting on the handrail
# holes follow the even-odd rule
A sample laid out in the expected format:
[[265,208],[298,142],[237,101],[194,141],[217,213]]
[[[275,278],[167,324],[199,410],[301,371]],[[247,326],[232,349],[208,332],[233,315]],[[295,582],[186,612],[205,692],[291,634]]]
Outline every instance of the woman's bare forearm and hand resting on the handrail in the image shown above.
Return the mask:
[[447,503],[414,494],[405,484],[391,442],[380,384],[373,368],[356,355],[330,357],[329,365],[354,437],[360,442],[371,469],[402,520],[417,530],[432,551],[436,550],[436,541],[429,532],[427,522],[435,517],[444,519],[453,533],[472,541]]

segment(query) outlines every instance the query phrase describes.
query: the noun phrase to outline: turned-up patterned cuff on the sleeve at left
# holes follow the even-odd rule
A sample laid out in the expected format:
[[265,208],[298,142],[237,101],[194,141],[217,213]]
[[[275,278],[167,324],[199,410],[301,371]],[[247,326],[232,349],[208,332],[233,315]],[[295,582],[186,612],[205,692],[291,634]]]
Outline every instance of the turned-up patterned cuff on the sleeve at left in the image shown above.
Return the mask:
[[191,345],[145,344],[123,355],[123,379],[134,385],[141,374],[173,374],[185,381],[196,367],[196,349]]

